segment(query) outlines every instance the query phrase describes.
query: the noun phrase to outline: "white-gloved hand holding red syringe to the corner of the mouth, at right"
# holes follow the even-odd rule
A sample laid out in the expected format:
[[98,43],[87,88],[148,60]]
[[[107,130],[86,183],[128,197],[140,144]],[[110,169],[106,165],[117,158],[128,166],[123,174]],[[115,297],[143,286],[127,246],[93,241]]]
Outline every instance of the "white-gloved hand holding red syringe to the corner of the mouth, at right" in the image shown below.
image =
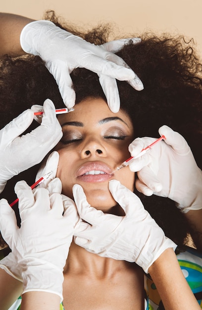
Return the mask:
[[[131,160],[129,167],[138,171],[136,188],[143,194],[168,197],[186,213],[202,208],[202,170],[186,140],[164,125],[159,134],[165,140],[153,146],[150,152]],[[129,146],[132,156],[151,144],[153,138],[137,138]]]

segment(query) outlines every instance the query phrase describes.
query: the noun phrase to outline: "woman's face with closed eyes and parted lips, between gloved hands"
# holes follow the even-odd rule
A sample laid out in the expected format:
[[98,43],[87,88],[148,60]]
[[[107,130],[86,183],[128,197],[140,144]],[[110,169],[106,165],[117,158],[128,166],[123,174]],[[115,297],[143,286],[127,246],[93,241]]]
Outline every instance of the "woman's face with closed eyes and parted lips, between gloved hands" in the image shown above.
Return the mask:
[[63,194],[73,198],[72,187],[80,184],[92,207],[108,211],[116,205],[108,190],[109,180],[134,189],[135,174],[128,167],[111,174],[130,157],[132,122],[121,110],[112,113],[103,99],[89,98],[74,108],[58,116],[63,137],[55,147],[59,153],[56,176]]

